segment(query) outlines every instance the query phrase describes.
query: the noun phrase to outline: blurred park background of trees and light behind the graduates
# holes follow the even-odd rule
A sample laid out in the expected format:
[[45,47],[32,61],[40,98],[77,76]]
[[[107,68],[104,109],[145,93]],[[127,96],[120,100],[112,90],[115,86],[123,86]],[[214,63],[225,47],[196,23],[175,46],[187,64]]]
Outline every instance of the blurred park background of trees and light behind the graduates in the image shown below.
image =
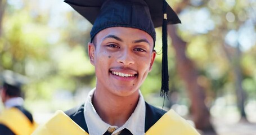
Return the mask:
[[[202,134],[256,134],[256,0],[167,1],[182,24],[169,26],[169,100]],[[29,81],[25,107],[43,123],[83,104],[95,87],[86,19],[57,0],[0,0],[0,74]],[[163,106],[161,28],[158,52],[141,91]],[[1,110],[3,105],[1,105]],[[1,111],[0,110],[0,111]]]

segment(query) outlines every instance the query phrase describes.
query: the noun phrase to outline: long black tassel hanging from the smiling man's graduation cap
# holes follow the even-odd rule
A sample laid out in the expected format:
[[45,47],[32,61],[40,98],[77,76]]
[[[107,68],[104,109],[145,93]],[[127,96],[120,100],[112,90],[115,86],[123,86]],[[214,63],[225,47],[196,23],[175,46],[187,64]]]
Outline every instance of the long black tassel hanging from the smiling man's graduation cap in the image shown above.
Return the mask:
[[162,56],[162,81],[160,96],[167,96],[169,93],[169,74],[168,74],[168,57],[167,57],[167,2],[163,0],[163,26],[162,26],[162,42],[163,42],[163,56]]

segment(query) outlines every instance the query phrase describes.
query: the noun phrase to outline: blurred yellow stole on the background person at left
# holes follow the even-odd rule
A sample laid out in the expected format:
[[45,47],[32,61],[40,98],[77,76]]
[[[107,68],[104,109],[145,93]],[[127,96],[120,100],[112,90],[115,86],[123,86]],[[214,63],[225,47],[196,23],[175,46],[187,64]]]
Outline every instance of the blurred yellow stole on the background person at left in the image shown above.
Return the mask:
[[12,132],[19,135],[31,134],[37,125],[30,120],[19,109],[12,107],[2,112],[0,123],[6,125]]

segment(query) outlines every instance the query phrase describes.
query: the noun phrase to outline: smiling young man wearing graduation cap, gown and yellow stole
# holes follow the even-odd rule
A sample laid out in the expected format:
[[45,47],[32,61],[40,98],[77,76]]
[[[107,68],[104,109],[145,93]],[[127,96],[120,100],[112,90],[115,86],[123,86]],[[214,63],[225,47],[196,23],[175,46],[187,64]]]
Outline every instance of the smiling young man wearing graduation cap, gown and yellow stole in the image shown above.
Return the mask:
[[[155,60],[154,28],[163,21],[165,1],[65,2],[93,24],[88,53],[96,88],[84,105],[66,111],[68,116],[59,112],[34,134],[198,134],[172,110],[147,104],[140,92]],[[165,8],[170,13],[166,21],[178,23],[176,13]]]

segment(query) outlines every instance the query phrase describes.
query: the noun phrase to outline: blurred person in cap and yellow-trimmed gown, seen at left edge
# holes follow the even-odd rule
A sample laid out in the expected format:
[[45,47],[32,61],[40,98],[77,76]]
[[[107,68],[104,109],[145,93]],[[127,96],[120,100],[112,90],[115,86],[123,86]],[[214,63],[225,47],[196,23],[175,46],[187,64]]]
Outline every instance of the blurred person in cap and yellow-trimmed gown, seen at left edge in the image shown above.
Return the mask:
[[23,106],[21,86],[26,78],[12,71],[4,71],[1,79],[0,95],[5,110],[0,114],[0,134],[31,134],[37,124]]

